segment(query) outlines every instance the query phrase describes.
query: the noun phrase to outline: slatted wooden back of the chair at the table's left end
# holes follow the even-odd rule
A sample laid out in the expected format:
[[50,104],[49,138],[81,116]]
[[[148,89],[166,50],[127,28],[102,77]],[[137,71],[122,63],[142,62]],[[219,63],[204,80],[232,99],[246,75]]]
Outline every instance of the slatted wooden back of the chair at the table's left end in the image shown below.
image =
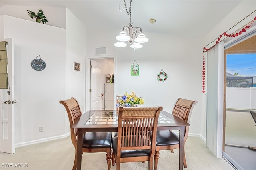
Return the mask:
[[80,118],[82,115],[80,106],[78,104],[78,101],[75,98],[67,99],[67,100],[61,100],[60,103],[64,105],[66,108],[66,111],[68,113],[68,119],[70,123],[70,135],[71,135],[71,141],[73,145],[76,147],[77,146],[77,129],[73,129],[72,125],[74,122]]

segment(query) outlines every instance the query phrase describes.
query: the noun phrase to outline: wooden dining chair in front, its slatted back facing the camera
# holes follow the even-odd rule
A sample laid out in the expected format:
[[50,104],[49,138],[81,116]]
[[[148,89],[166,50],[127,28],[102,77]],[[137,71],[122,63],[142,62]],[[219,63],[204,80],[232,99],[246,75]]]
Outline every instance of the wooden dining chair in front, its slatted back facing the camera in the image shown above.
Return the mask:
[[[120,170],[120,163],[148,161],[153,170],[156,150],[156,130],[162,107],[120,107],[118,135],[112,138],[112,165]],[[150,135],[152,134],[152,135]]]

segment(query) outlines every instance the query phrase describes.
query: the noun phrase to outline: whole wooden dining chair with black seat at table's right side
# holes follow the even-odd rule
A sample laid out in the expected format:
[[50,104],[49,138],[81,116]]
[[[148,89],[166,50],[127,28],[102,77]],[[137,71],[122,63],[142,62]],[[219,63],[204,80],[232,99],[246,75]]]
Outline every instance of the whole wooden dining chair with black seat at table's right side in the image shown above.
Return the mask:
[[[194,105],[196,105],[198,101],[192,101],[187,99],[178,98],[174,108],[172,110],[172,114],[183,119],[186,122],[190,122],[190,117]],[[184,136],[184,143],[188,138],[188,128],[189,126],[185,127],[185,136]],[[155,160],[155,168],[157,170],[157,164],[159,160],[159,150],[171,150],[173,153],[173,149],[177,149],[180,147],[180,140],[179,136],[177,136],[171,130],[160,130],[156,133],[156,152],[154,155]],[[183,153],[183,166],[187,168],[186,158],[185,158],[185,148]]]

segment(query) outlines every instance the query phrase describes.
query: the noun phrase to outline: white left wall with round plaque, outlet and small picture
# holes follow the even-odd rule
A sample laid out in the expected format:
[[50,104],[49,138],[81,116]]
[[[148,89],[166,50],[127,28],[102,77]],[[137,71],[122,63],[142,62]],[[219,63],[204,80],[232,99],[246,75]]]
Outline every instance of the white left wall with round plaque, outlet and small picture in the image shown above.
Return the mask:
[[[75,97],[85,111],[86,30],[69,10],[64,16],[66,29],[1,16],[1,37],[14,38],[16,42],[16,146],[59,138],[70,132],[60,100]],[[46,62],[43,71],[30,67],[38,54]],[[81,72],[73,71],[73,61],[81,63]],[[44,132],[39,132],[42,125]]]

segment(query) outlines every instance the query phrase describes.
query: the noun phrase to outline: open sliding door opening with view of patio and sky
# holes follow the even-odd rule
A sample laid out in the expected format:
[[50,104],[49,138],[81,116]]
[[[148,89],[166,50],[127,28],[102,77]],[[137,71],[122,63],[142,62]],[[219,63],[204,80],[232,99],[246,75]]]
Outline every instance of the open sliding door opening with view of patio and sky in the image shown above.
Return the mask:
[[[246,38],[245,38],[246,39]],[[236,169],[242,170],[250,170],[254,169],[256,166],[255,157],[256,151],[252,151],[248,148],[248,145],[255,145],[256,144],[256,127],[254,126],[254,121],[250,115],[250,110],[253,109],[255,106],[250,104],[252,99],[256,99],[256,93],[249,94],[250,97],[246,97],[246,93],[248,91],[254,90],[255,87],[249,87],[253,85],[249,84],[242,80],[241,77],[236,77],[239,74],[234,73],[233,77],[239,78],[239,82],[236,82],[238,85],[234,85],[232,83],[228,85],[227,77],[228,77],[228,70],[227,70],[227,55],[241,55],[244,54],[256,54],[256,35],[243,40],[242,42],[233,45],[225,49],[224,51],[224,125],[223,125],[223,156],[230,164],[232,164]],[[241,58],[240,64],[244,63],[245,60]],[[256,66],[256,59],[255,64]],[[256,76],[256,75],[254,75]],[[248,76],[249,77],[249,76]],[[251,77],[251,76],[250,76]],[[250,78],[249,77],[249,78]],[[255,78],[254,78],[255,79]],[[252,79],[253,81],[253,79]],[[242,88],[244,84],[246,88]],[[254,82],[255,83],[255,82]],[[241,88],[237,88],[237,87]],[[230,92],[232,90],[232,92]],[[240,90],[237,95],[234,95],[235,91]],[[233,95],[233,96],[231,96]],[[255,96],[254,96],[255,95]],[[239,102],[239,100],[242,101]],[[232,101],[233,100],[233,101]],[[248,102],[244,102],[249,100]],[[232,102],[230,102],[232,101]],[[236,103],[237,102],[237,103]],[[244,102],[244,106],[242,103]],[[248,104],[246,106],[246,104]],[[255,109],[255,108],[254,108]]]

